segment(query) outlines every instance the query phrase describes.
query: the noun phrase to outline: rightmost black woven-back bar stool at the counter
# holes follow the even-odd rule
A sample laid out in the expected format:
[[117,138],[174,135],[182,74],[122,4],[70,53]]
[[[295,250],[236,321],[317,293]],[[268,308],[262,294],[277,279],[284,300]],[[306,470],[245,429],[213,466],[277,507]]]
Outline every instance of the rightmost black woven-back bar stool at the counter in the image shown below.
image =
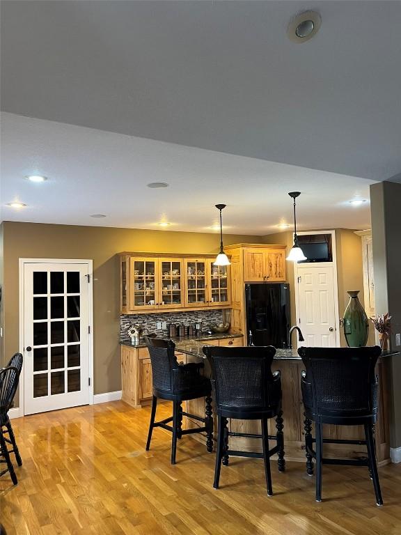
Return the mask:
[[[377,473],[374,426],[377,419],[377,379],[375,366],[381,353],[368,348],[299,348],[306,366],[301,375],[305,410],[306,470],[313,475],[316,460],[316,501],[322,501],[322,465],[368,466],[377,505],[383,504]],[[316,437],[311,435],[315,422]],[[323,438],[323,424],[365,428],[365,440]],[[313,444],[316,444],[316,451]],[[323,456],[323,444],[365,444],[368,458],[333,459]]]

